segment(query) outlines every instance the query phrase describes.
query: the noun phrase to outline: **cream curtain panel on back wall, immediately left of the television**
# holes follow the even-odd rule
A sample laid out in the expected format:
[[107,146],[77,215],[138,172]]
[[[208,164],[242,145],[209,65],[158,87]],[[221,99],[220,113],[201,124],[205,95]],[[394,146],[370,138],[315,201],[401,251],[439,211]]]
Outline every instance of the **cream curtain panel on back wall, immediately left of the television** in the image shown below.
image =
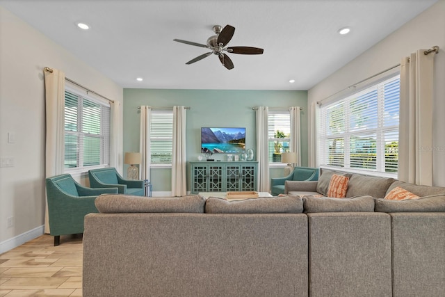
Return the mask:
[[173,106],[172,196],[187,194],[186,107]]

